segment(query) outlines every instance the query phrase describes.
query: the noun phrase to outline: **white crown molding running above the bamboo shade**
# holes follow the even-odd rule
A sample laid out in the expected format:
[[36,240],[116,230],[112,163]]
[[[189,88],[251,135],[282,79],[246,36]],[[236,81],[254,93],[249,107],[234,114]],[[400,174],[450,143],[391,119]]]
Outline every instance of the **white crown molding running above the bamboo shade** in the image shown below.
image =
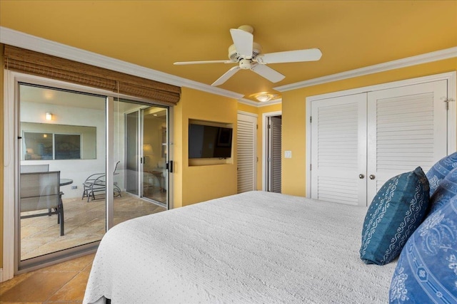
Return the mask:
[[175,75],[160,72],[159,70],[145,68],[134,63],[128,63],[119,59],[84,51],[81,48],[67,46],[65,44],[36,37],[28,33],[15,31],[11,28],[5,28],[4,26],[0,26],[0,43],[9,44],[10,46],[17,46],[19,48],[26,48],[31,51],[45,53],[48,55],[69,59],[71,61],[78,61],[80,63],[98,66],[99,68],[107,68],[109,70],[115,70],[117,72],[135,75],[149,80],[156,80],[160,81],[161,83],[169,83],[179,87],[201,90],[215,95],[234,98],[236,100],[243,98],[244,96],[240,93],[224,90],[221,88],[215,88],[211,85],[206,85],[194,80],[189,80],[186,78],[181,78]]

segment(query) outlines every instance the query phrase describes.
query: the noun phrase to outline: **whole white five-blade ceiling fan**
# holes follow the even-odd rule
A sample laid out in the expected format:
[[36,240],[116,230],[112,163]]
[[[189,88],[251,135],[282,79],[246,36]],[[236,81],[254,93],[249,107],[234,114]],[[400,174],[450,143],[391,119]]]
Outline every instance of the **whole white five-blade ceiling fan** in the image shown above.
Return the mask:
[[235,73],[241,69],[253,70],[263,78],[270,80],[272,83],[277,83],[286,76],[266,66],[266,64],[318,61],[322,56],[321,50],[318,48],[263,54],[260,44],[253,41],[253,31],[254,29],[252,26],[240,26],[238,28],[230,29],[233,44],[229,47],[230,60],[228,61],[183,61],[174,64],[238,63],[238,65],[233,66],[233,68],[224,73],[224,75],[219,77],[219,79],[214,81],[211,85],[221,85],[225,83],[226,80],[231,78],[231,76],[235,75]]

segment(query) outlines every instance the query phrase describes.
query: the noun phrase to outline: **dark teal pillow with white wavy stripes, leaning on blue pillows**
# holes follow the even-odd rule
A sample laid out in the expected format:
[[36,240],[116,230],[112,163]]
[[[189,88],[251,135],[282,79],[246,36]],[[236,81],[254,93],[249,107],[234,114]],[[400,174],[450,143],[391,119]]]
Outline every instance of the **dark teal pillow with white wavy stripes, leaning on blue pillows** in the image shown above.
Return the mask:
[[389,179],[371,202],[362,229],[360,257],[384,265],[399,254],[428,207],[428,180],[421,167]]

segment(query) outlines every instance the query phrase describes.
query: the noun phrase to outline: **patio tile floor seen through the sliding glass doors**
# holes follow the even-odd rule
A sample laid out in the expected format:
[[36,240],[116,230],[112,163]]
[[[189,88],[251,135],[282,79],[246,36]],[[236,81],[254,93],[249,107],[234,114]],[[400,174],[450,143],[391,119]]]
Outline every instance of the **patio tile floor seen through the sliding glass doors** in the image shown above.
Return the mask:
[[[21,219],[21,260],[99,241],[105,234],[105,206],[104,199],[64,199],[64,236],[60,236],[56,215]],[[122,197],[114,199],[114,224],[164,210],[123,192]]]

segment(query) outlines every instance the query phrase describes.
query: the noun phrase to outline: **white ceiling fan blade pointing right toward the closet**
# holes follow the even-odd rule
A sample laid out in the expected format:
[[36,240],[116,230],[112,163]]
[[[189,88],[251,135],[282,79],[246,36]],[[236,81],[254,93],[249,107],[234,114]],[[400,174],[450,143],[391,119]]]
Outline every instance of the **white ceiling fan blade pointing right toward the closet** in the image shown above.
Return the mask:
[[256,57],[256,61],[262,64],[318,61],[321,59],[321,56],[321,50],[318,48],[309,48],[307,50],[261,54]]

